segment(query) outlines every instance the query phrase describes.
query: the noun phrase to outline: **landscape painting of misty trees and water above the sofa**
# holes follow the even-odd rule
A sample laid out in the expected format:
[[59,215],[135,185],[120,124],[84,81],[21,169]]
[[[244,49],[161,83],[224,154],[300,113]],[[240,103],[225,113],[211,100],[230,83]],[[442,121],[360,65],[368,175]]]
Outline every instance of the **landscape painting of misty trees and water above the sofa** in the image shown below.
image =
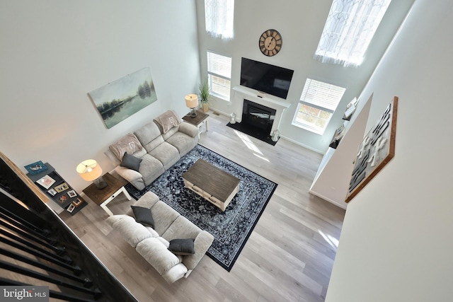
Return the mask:
[[110,129],[157,100],[149,67],[88,93]]

